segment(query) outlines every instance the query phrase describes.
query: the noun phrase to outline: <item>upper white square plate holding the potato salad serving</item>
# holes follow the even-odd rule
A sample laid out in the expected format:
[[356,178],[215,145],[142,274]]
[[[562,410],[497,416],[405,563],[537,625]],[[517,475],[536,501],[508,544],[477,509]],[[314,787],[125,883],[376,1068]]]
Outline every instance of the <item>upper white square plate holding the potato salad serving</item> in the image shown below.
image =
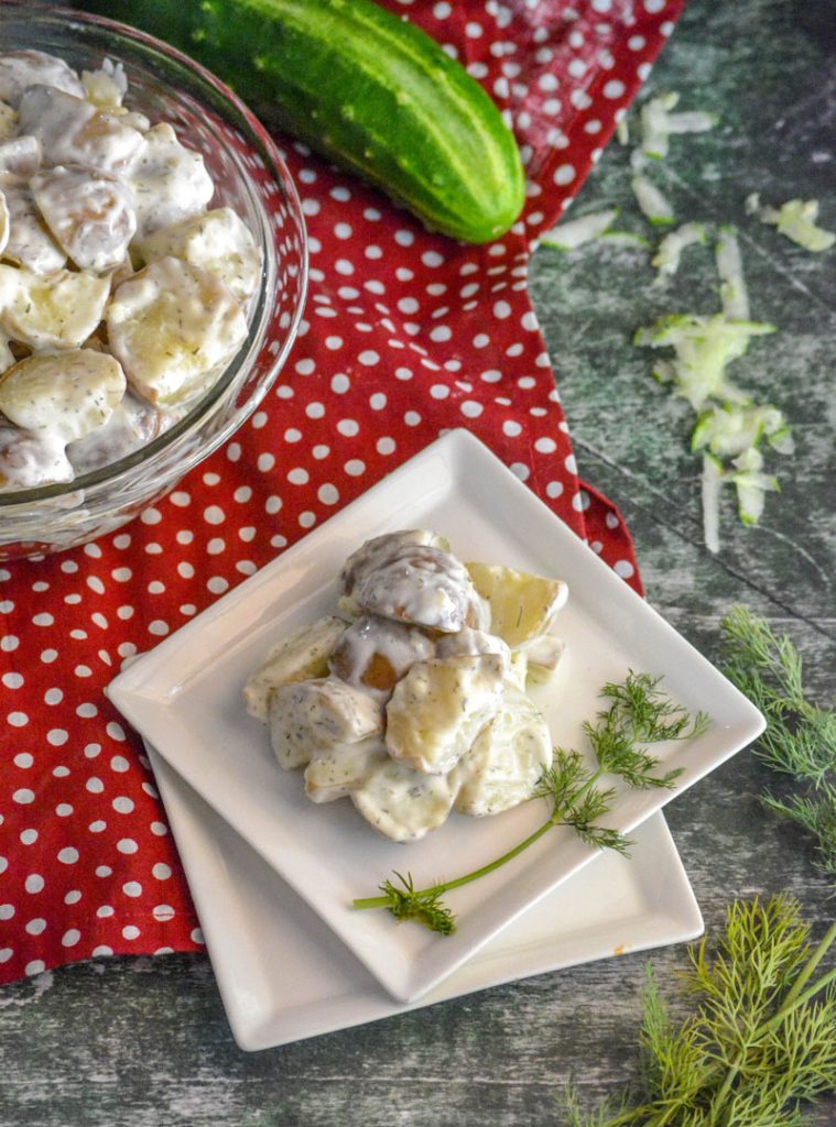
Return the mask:
[[481,442],[454,431],[413,458],[279,559],[135,660],[109,686],[131,724],[333,928],[395,999],[414,1001],[496,932],[578,872],[597,851],[570,829],[540,838],[511,864],[457,889],[458,931],[441,937],[399,926],[382,911],[357,912],[395,870],[419,887],[477,868],[531,833],[546,806],[494,818],[454,814],[421,842],[378,837],[346,801],[315,806],[301,777],[280,770],[241,687],[267,649],[305,622],[333,613],[336,576],[367,538],[395,529],[445,534],[464,559],[509,564],[569,583],[560,615],[567,651],[537,699],[556,745],[584,747],[582,722],[598,693],[628,669],[665,674],[665,686],[710,729],[661,744],[675,790],[616,784],[608,824],[630,833],[764,727],[760,713],[619,579]]

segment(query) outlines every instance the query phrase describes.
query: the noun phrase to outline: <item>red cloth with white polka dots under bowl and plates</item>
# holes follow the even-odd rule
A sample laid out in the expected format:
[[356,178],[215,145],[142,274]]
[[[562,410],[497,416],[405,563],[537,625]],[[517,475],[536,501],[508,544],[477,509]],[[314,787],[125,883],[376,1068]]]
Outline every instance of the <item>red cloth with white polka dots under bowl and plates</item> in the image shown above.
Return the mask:
[[496,243],[460,246],[282,142],[311,281],[273,392],[122,531],[0,567],[0,982],[97,952],[201,946],[141,742],[104,686],[443,429],[473,431],[641,591],[617,511],[578,480],[527,269],[681,2],[390,7],[508,113],[531,181],[525,216]]

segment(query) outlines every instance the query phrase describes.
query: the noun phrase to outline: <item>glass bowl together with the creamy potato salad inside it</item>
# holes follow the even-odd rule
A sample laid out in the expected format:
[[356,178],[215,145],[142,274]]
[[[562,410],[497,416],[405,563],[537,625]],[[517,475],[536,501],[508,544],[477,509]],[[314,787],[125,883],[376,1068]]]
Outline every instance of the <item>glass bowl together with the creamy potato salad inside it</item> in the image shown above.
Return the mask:
[[111,532],[255,410],[298,331],[299,199],[208,71],[0,3],[0,559]]

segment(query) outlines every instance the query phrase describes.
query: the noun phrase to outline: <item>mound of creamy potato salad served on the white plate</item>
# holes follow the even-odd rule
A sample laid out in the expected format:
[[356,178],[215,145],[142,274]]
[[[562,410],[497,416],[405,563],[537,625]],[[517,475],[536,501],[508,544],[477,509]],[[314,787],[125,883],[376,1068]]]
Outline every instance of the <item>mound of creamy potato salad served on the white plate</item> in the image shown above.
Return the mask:
[[483,817],[530,798],[553,753],[526,689],[557,668],[566,585],[463,564],[442,536],[410,530],[367,541],[340,588],[337,613],[281,639],[244,690],[308,797],[350,797],[397,842],[454,809]]

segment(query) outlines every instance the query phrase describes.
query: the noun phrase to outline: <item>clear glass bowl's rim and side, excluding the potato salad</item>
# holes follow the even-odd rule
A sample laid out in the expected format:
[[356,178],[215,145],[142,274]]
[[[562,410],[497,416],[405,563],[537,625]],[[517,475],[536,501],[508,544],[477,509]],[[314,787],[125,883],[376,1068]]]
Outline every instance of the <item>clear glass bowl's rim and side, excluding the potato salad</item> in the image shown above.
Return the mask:
[[211,206],[234,207],[262,251],[261,286],[237,356],[179,421],[147,445],[67,483],[0,492],[0,560],[72,548],[112,532],[168,492],[252,415],[281,371],[305,305],[301,205],[275,144],[219,79],[158,39],[65,8],[0,0],[0,50],[36,48],[80,71],[123,63],[125,105],[167,121],[202,153]]

